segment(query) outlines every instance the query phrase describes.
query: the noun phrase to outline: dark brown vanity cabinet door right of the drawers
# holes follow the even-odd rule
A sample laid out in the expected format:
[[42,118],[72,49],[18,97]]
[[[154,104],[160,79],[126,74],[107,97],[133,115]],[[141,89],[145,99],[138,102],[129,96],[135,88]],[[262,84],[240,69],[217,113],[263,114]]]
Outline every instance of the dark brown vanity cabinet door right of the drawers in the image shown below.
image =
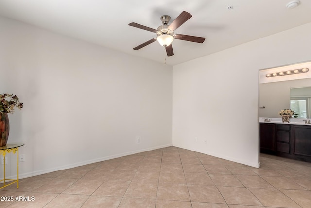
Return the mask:
[[311,157],[311,126],[294,125],[293,154]]

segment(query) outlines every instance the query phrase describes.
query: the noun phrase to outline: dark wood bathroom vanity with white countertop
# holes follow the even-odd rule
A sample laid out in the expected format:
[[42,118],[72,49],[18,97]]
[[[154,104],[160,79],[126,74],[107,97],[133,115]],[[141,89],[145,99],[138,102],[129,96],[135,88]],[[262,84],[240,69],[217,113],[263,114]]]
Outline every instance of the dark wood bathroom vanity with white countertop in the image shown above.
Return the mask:
[[311,162],[310,119],[260,118],[260,152]]

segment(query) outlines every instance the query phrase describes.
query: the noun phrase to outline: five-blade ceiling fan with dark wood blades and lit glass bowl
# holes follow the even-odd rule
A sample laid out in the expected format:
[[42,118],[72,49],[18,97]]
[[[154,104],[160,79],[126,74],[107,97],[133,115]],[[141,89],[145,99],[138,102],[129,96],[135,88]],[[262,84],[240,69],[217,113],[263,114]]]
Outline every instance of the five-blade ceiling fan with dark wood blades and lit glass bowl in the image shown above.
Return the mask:
[[165,48],[167,56],[169,57],[169,56],[174,55],[173,47],[171,44],[174,39],[203,43],[205,38],[202,38],[202,37],[174,34],[174,30],[180,27],[183,23],[185,23],[191,17],[192,15],[190,15],[188,12],[183,11],[182,13],[180,13],[180,15],[176,19],[173,20],[173,22],[170,25],[168,25],[171,17],[168,15],[163,15],[160,18],[163,25],[159,26],[156,30],[153,28],[135,23],[135,22],[129,23],[128,25],[132,27],[137,27],[139,29],[147,30],[147,31],[156,33],[157,35],[156,38],[152,38],[151,40],[148,40],[147,42],[144,42],[133,49],[139,50],[157,40],[160,43],[160,45],[162,45]]

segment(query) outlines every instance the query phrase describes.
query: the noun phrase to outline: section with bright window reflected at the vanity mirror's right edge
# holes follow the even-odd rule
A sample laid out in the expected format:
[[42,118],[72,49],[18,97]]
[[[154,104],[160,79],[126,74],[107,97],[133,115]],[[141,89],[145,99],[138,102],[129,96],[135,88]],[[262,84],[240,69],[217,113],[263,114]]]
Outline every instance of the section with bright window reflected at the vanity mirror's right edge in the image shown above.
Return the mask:
[[311,87],[290,88],[290,109],[298,113],[298,118],[310,118]]

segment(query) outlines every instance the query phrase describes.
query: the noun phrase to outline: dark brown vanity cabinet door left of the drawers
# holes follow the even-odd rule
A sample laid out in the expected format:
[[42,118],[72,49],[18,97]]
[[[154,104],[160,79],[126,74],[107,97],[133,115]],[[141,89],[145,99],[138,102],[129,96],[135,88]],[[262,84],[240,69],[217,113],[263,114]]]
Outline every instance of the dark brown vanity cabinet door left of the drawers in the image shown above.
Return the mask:
[[275,125],[260,123],[260,152],[273,153],[275,151]]

